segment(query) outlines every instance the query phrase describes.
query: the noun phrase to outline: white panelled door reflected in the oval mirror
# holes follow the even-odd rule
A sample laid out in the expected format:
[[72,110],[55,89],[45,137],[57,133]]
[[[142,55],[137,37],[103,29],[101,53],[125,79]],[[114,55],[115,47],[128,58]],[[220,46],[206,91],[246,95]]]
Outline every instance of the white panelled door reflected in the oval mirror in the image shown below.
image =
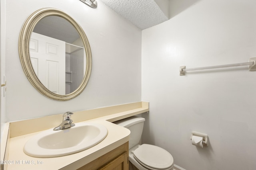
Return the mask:
[[65,42],[33,32],[30,59],[42,84],[51,92],[65,94]]

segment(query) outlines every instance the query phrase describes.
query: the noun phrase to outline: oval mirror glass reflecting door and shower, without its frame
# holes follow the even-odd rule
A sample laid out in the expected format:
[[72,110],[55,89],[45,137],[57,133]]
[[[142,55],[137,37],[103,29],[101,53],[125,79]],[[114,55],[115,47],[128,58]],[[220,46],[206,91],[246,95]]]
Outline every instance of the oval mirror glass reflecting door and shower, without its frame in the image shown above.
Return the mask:
[[60,16],[46,16],[30,38],[30,61],[40,82],[51,92],[74,92],[86,72],[84,43],[76,28]]

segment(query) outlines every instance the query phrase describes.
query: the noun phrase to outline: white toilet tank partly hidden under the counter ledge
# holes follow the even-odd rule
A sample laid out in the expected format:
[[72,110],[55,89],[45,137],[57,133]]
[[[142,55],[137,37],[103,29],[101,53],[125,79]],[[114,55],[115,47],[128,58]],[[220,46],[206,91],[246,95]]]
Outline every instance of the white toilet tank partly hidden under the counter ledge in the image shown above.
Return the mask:
[[131,133],[129,139],[129,149],[139,144],[143,131],[144,121],[145,119],[143,117],[132,116],[113,122],[130,130]]

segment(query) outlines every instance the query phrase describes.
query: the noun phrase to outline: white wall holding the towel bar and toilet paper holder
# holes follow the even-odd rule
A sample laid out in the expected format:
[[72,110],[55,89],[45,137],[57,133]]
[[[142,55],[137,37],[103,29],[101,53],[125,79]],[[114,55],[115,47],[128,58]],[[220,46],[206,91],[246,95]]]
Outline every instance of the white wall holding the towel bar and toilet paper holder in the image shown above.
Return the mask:
[[[250,57],[256,57],[255,0],[200,0],[143,30],[142,101],[150,102],[143,143],[168,150],[186,170],[255,170],[256,72],[239,67],[179,76],[182,65]],[[210,146],[192,145],[192,131],[208,134]]]

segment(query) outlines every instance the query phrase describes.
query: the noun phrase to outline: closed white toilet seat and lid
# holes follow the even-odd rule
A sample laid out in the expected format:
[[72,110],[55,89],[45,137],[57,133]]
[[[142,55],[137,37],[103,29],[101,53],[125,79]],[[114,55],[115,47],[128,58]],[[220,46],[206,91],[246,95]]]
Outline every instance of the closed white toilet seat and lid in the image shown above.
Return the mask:
[[150,170],[167,170],[174,163],[168,151],[154,145],[142,144],[133,154],[142,166]]

